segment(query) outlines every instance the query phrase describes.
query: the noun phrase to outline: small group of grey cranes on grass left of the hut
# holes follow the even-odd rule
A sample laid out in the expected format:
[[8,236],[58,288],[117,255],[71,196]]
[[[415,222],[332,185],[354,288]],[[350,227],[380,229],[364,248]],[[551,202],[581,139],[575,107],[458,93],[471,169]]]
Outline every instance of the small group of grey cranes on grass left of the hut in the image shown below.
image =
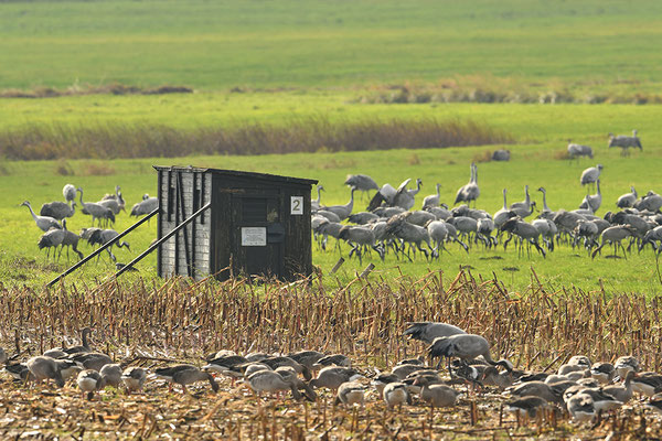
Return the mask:
[[[81,212],[85,215],[92,216],[92,227],[83,228],[81,234],[70,232],[66,227],[67,218],[71,218],[76,213],[76,195],[79,193]],[[83,189],[75,187],[72,184],[66,184],[62,189],[64,201],[54,201],[45,203],[41,206],[39,215],[34,213],[32,205],[29,201],[24,201],[21,206],[26,206],[32,215],[32,219],[38,228],[44,234],[38,241],[39,249],[46,249],[46,256],[50,256],[51,249],[53,250],[53,258],[55,258],[57,248],[57,260],[62,256],[62,251],[66,248],[66,257],[68,260],[70,248],[83,259],[84,255],[78,250],[78,241],[81,239],[87,240],[92,246],[105,245],[108,241],[115,239],[119,234],[108,228],[109,224],[115,224],[115,216],[120,212],[126,212],[125,200],[121,195],[121,189],[119,185],[115,187],[115,193],[106,194],[98,202],[84,202],[83,201]],[[131,208],[131,216],[142,216],[151,213],[158,206],[158,200],[150,197],[148,194],[142,196],[142,201],[136,203]],[[98,227],[95,227],[95,220]],[[129,244],[126,241],[118,241],[114,244],[118,248],[129,248]],[[115,255],[111,251],[113,247],[107,248],[108,254],[113,261],[117,261]]]

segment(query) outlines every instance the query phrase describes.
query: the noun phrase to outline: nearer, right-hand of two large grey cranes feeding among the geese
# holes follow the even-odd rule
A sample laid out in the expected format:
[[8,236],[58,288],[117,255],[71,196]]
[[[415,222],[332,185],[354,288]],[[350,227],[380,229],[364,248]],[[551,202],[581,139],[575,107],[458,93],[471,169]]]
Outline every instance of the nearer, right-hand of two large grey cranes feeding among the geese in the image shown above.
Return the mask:
[[437,369],[441,366],[441,358],[446,357],[448,361],[448,372],[452,377],[450,369],[450,358],[457,357],[461,361],[473,359],[481,356],[491,364],[492,366],[503,366],[506,370],[512,370],[512,364],[509,361],[501,359],[494,362],[490,355],[490,344],[481,335],[476,334],[457,334],[445,337],[437,337],[433,341],[433,344],[428,346],[428,355],[430,358],[439,358],[437,363]]

